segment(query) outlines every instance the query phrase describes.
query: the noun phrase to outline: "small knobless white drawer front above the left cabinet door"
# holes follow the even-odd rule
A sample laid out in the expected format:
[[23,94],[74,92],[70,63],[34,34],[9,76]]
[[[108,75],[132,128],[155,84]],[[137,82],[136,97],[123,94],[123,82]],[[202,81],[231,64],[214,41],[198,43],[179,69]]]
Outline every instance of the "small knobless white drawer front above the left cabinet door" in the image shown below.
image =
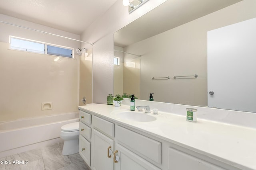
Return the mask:
[[106,135],[114,137],[114,123],[92,115],[92,125]]

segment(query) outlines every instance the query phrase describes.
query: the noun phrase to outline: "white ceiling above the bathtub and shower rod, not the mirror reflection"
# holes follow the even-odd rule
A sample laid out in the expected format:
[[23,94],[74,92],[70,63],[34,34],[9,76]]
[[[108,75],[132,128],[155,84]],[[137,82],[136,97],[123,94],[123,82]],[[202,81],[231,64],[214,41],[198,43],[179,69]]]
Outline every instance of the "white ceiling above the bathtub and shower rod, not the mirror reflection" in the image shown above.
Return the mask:
[[0,13],[80,35],[117,0],[0,0]]

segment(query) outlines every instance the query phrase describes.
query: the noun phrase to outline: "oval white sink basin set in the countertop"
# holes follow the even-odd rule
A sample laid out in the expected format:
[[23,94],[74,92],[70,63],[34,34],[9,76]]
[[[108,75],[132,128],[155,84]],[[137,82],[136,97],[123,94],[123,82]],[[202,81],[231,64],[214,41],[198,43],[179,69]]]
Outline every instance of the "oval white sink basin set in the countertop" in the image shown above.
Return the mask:
[[123,111],[115,114],[116,117],[120,119],[126,119],[130,121],[155,121],[156,117],[148,115],[147,113],[140,113],[134,111]]

